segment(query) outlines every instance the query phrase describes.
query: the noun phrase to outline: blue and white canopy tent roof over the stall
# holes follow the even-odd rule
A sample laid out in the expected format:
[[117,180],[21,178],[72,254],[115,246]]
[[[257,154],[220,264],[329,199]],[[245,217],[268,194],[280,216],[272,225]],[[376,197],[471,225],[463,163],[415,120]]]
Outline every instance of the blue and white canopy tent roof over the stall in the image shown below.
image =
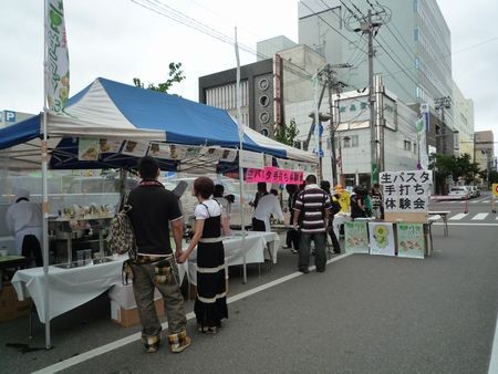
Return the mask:
[[[157,158],[165,170],[204,173],[206,167],[216,169],[219,160],[203,157],[207,147],[238,149],[240,146],[237,123],[224,110],[102,77],[73,96],[65,113],[64,116],[48,114],[50,167],[53,169],[134,167],[136,156],[124,149],[128,141],[142,143],[146,149],[152,144],[199,147],[197,153],[190,149],[189,157],[184,153],[181,159]],[[8,148],[11,167],[35,168],[40,164],[41,122],[42,115],[38,115],[0,129],[0,150]],[[93,160],[84,160],[81,154],[79,158],[82,138],[122,141],[122,144],[116,152],[100,153]],[[247,126],[242,146],[245,150],[290,159],[298,165],[317,162],[315,155],[283,145]],[[237,160],[220,162],[225,169],[228,164],[237,168]]]

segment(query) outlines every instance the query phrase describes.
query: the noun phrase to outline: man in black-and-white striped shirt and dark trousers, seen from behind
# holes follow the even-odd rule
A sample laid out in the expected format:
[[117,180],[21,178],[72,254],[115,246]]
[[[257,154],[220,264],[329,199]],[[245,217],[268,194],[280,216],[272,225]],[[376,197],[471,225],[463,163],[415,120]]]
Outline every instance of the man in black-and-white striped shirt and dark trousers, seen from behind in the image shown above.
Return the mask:
[[310,272],[311,241],[314,242],[314,263],[317,271],[325,271],[325,231],[329,226],[329,212],[331,204],[329,195],[317,185],[317,177],[309,175],[305,178],[305,187],[299,194],[294,205],[294,229],[300,229],[299,245],[299,271]]

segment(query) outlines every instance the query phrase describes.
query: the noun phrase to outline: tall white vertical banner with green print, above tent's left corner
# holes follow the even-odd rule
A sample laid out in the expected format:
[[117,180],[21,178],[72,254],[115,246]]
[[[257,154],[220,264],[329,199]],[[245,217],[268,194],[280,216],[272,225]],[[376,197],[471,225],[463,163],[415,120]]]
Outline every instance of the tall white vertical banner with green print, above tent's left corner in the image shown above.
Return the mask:
[[49,110],[62,114],[70,94],[64,7],[62,0],[46,0],[45,7],[45,96]]

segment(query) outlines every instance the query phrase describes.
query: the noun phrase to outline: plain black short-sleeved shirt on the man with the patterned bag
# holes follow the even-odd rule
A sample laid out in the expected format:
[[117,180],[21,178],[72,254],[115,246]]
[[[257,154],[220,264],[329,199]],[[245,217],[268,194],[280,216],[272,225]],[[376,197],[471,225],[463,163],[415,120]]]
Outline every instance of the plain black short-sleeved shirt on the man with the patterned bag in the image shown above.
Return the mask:
[[141,184],[132,190],[127,202],[132,206],[128,216],[138,254],[170,254],[169,222],[181,218],[176,195],[162,184],[152,181],[151,185]]

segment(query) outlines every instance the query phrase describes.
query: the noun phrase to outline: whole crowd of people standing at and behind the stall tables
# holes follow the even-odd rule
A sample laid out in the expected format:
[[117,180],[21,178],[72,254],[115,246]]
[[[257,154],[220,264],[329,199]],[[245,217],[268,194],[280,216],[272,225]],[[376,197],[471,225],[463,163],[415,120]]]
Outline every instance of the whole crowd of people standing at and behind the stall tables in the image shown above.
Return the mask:
[[[193,236],[183,248],[184,214],[178,191],[169,191],[158,181],[159,166],[155,158],[146,156],[137,165],[141,181],[127,195],[129,217],[136,241],[136,254],[131,259],[133,292],[142,323],[142,340],[146,352],[157,352],[162,341],[162,324],[154,304],[157,288],[165,302],[168,319],[167,341],[172,352],[179,353],[190,345],[184,298],[179,288],[177,263],[187,261],[197,248],[197,294],[194,312],[200,333],[214,334],[228,318],[227,267],[222,238],[230,235],[230,205],[232,196],[224,196],[224,186],[215,185],[208,177],[194,181],[191,195],[197,198]],[[183,186],[185,187],[185,186]],[[185,188],[184,188],[185,189]],[[351,218],[383,217],[382,193],[378,185],[371,191],[355,187],[350,195],[342,186],[309,175],[304,183],[287,185],[289,225],[286,243],[298,256],[298,269],[309,272],[311,243],[318,272],[325,271],[325,245],[330,236],[335,253],[341,252],[339,240],[332,229],[333,219],[340,211],[351,209]],[[278,190],[268,191],[267,184],[258,184],[253,201],[252,230],[270,231],[270,219],[284,221]],[[15,235],[17,250],[28,256],[28,249],[37,248],[37,264],[41,266],[40,206],[29,201],[29,193],[19,190],[7,211],[7,226]],[[172,232],[170,232],[172,231]],[[175,250],[172,248],[170,237]]]

